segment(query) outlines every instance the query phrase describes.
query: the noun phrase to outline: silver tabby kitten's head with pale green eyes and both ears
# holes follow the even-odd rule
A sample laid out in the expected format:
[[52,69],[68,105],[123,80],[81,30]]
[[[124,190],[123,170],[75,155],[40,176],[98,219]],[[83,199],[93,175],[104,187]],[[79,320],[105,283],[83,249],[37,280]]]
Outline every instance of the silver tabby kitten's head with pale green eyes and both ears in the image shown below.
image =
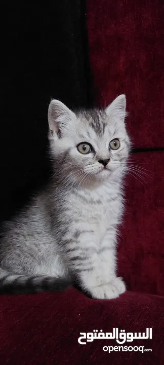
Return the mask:
[[50,152],[63,183],[92,187],[125,172],[130,150],[125,117],[125,95],[103,110],[72,112],[61,101],[51,101]]

